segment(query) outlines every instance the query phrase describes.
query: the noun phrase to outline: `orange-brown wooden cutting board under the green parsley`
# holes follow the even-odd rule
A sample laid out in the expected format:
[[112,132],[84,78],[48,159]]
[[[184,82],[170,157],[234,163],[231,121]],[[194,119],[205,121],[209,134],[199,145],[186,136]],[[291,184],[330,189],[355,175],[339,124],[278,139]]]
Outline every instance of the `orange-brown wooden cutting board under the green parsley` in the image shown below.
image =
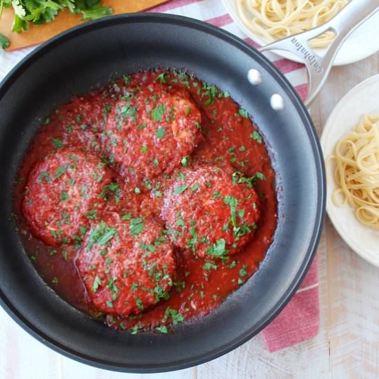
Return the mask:
[[[166,3],[167,0],[103,0],[103,5],[110,6],[113,9],[113,14],[140,12],[158,6],[161,3]],[[8,37],[10,47],[7,51],[25,48],[31,45],[37,45],[47,41],[51,37],[63,32],[72,26],[82,23],[81,14],[70,14],[68,10],[59,12],[59,15],[54,21],[43,25],[32,25],[26,32],[12,33],[10,28],[13,20],[13,10],[8,8],[3,10],[3,15],[0,19],[0,33]]]

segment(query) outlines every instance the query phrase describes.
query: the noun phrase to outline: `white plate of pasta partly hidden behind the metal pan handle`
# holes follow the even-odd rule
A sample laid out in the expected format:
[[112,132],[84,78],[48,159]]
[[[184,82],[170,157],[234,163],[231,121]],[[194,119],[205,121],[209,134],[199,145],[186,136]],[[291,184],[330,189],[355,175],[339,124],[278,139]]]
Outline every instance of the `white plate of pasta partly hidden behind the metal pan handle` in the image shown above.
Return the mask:
[[[358,0],[359,1],[359,0]],[[254,34],[249,30],[243,21],[238,16],[237,12],[237,1],[236,0],[223,0],[223,4],[229,12],[232,19],[236,22],[238,27],[250,37],[256,43],[260,45],[265,45],[262,37],[258,34]],[[360,27],[355,30],[351,36],[345,41],[345,43],[340,48],[337,57],[333,65],[347,65],[349,63],[354,63],[369,57],[369,55],[377,52],[379,50],[379,12],[373,14],[373,16],[368,19],[365,23],[362,23]],[[325,49],[315,49],[320,55],[325,52]],[[288,54],[283,51],[276,51],[276,54],[292,61],[301,62],[298,57],[294,54]]]

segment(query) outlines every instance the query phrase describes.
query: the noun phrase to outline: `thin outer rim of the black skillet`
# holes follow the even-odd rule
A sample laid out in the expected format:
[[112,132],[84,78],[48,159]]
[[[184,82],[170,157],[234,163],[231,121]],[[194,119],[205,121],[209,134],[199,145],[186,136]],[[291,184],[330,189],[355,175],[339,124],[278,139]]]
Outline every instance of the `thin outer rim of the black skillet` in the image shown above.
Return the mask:
[[239,50],[247,53],[254,61],[258,61],[260,65],[263,65],[265,70],[272,76],[272,78],[280,85],[282,85],[283,90],[289,96],[291,103],[294,105],[300,119],[303,121],[303,127],[306,128],[306,132],[309,136],[309,143],[311,145],[311,152],[314,156],[315,168],[316,168],[316,177],[317,181],[317,192],[318,192],[318,202],[316,210],[316,221],[314,225],[314,232],[310,238],[309,247],[307,252],[305,252],[305,258],[303,260],[300,269],[294,280],[285,291],[285,294],[278,300],[276,307],[274,307],[265,320],[261,320],[254,328],[250,328],[249,331],[246,331],[244,334],[234,338],[234,340],[225,343],[223,346],[219,347],[214,351],[210,351],[207,355],[201,357],[192,358],[191,360],[181,360],[176,362],[168,362],[165,364],[159,365],[130,365],[130,364],[118,364],[115,362],[100,360],[97,358],[92,358],[85,354],[81,354],[79,351],[74,351],[68,347],[61,345],[54,338],[41,332],[37,327],[34,327],[32,322],[29,322],[22,314],[17,311],[16,307],[12,305],[12,302],[6,298],[3,291],[0,289],[0,305],[3,309],[6,310],[8,315],[17,322],[25,331],[27,331],[34,338],[42,342],[45,346],[50,347],[54,351],[76,360],[87,365],[94,367],[99,367],[101,369],[107,369],[112,371],[120,372],[129,372],[129,373],[158,373],[166,371],[174,371],[178,369],[185,369],[188,367],[193,367],[195,365],[201,365],[204,362],[218,358],[224,354],[227,354],[229,351],[236,349],[236,347],[242,345],[243,343],[250,340],[253,336],[258,334],[265,326],[272,322],[280,311],[287,305],[291,297],[295,294],[296,290],[303,281],[303,278],[308,272],[308,269],[314,259],[316,254],[316,249],[320,241],[320,236],[322,232],[322,225],[325,218],[325,206],[326,206],[326,179],[325,179],[325,165],[324,159],[322,156],[322,150],[320,146],[320,141],[316,133],[316,128],[314,127],[311,117],[307,112],[303,101],[298,96],[298,93],[292,87],[291,83],[285,78],[285,76],[274,66],[274,64],[269,61],[263,54],[258,52],[258,50],[252,48],[242,39],[236,37],[234,34],[217,28],[214,25],[205,23],[204,21],[199,21],[197,19],[192,19],[189,17],[178,16],[174,14],[163,14],[163,13],[134,13],[134,14],[118,14],[110,17],[104,17],[99,20],[89,21],[80,25],[76,25],[74,28],[65,30],[52,39],[41,44],[39,47],[35,48],[30,52],[26,57],[24,57],[17,65],[10,70],[6,77],[0,83],[0,101],[3,98],[4,94],[13,81],[17,80],[19,73],[22,72],[24,68],[28,68],[34,63],[40,55],[43,55],[46,51],[57,48],[61,42],[70,40],[80,34],[85,32],[90,32],[91,30],[96,30],[97,28],[112,26],[113,24],[119,24],[123,22],[153,22],[153,23],[171,23],[172,25],[185,26],[187,28],[192,28],[195,30],[201,30],[212,34],[213,37],[217,39],[223,39],[227,43],[234,45]]

